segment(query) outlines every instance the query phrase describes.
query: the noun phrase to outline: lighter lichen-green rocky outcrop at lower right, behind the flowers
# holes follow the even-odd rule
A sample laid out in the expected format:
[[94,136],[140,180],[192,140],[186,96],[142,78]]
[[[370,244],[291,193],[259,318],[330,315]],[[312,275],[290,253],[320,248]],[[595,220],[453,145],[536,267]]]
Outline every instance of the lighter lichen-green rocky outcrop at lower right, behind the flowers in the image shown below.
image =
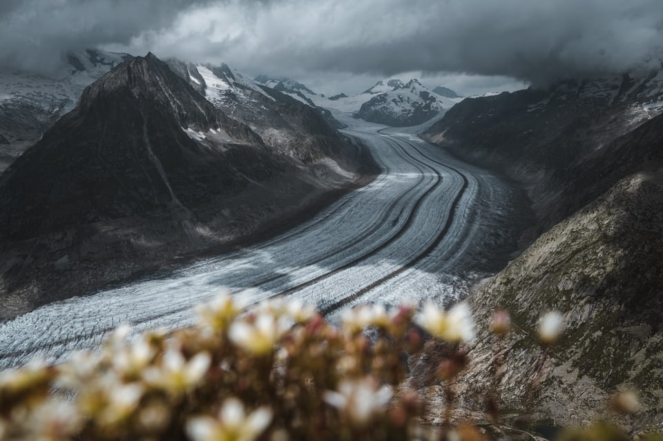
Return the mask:
[[[639,391],[643,409],[623,424],[651,429],[663,418],[663,162],[620,180],[595,202],[557,224],[470,296],[482,331],[459,396],[482,397],[497,357],[486,331],[507,308],[512,334],[501,347],[499,383],[507,418],[582,425],[601,418],[611,395]],[[561,311],[567,331],[549,351],[537,342],[541,313]],[[530,385],[539,378],[541,386]],[[481,400],[465,402],[483,409]]]

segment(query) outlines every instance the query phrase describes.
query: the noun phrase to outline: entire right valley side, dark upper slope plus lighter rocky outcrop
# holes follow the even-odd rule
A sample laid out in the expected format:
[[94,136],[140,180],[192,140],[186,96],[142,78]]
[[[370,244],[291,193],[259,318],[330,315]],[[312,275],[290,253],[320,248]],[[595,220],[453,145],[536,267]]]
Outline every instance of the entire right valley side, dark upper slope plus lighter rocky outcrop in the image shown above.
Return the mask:
[[[465,99],[424,135],[528,184],[539,216],[533,243],[470,295],[482,331],[460,396],[483,396],[494,381],[497,346],[485,329],[504,307],[515,325],[500,349],[507,418],[534,409],[535,424],[582,424],[626,388],[639,390],[644,405],[627,427],[663,418],[662,79]],[[535,329],[551,309],[568,330],[544,355]]]

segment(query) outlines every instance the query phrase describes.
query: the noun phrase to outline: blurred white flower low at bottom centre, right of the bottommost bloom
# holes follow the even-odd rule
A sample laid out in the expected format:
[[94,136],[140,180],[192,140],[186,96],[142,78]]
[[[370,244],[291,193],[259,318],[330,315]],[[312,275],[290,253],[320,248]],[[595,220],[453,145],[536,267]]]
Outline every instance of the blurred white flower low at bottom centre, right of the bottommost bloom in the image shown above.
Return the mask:
[[370,377],[363,380],[343,380],[338,391],[326,391],[325,402],[345,413],[352,424],[365,426],[374,415],[383,411],[392,398],[392,389],[378,384]]

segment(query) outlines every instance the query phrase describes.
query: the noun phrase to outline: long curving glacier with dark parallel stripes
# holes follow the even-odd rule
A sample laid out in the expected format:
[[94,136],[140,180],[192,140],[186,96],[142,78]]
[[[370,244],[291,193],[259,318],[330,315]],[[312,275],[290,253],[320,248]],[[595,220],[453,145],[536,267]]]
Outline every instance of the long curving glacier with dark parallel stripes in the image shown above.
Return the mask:
[[122,323],[135,331],[186,326],[193,306],[224,290],[249,302],[296,297],[332,320],[358,303],[464,295],[467,272],[492,258],[486,244],[510,222],[510,188],[413,130],[343,122],[350,126],[345,134],[363,141],[383,169],[374,182],[262,244],[1,324],[0,368],[94,349]]

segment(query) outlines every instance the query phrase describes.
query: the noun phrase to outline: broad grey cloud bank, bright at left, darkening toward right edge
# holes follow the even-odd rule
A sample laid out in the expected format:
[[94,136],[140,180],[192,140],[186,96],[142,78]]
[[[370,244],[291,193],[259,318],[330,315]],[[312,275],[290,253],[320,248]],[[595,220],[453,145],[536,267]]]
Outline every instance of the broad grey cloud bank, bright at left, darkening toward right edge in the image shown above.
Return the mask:
[[540,82],[660,67],[663,1],[231,1],[183,14],[173,28],[133,43],[248,69],[470,72]]

